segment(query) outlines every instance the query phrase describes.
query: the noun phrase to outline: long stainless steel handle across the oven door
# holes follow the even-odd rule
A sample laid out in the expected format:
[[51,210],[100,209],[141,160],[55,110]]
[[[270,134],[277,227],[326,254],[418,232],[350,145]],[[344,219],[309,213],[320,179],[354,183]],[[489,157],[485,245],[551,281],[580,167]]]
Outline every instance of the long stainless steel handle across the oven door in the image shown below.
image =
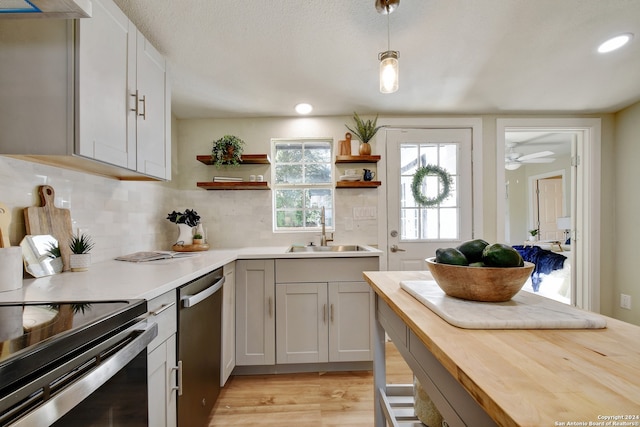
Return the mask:
[[143,321],[128,328],[127,331],[141,331],[141,333],[116,354],[100,363],[86,375],[70,384],[59,394],[45,401],[32,412],[29,412],[13,424],[10,424],[10,426],[29,427],[52,424],[104,385],[138,356],[138,354],[144,351],[149,343],[158,335],[158,325],[156,323]]

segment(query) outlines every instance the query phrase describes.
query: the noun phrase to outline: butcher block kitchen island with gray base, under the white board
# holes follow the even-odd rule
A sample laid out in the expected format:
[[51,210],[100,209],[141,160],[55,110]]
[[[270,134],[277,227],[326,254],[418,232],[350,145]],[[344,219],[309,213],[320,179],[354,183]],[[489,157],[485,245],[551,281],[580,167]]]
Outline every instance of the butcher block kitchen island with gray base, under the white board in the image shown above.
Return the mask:
[[460,328],[401,288],[428,272],[364,277],[376,294],[377,427],[393,406],[385,332],[449,426],[640,426],[640,327],[602,316],[596,329]]

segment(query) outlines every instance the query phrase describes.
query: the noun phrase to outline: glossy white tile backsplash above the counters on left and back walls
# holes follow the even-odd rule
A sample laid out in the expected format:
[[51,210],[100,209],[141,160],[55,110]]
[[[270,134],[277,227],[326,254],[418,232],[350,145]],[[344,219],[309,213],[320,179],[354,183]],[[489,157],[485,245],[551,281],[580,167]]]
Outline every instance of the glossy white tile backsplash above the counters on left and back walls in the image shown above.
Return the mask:
[[[11,244],[25,235],[23,209],[41,206],[38,186],[55,190],[55,206],[71,211],[72,228],[95,240],[92,261],[141,250],[170,249],[178,233],[165,218],[195,209],[213,248],[283,246],[320,241],[319,233],[273,233],[270,191],[178,189],[164,182],[118,181],[0,156],[0,202],[11,210]],[[354,208],[377,205],[371,190],[336,195],[335,243],[376,244],[377,220],[354,219]]]

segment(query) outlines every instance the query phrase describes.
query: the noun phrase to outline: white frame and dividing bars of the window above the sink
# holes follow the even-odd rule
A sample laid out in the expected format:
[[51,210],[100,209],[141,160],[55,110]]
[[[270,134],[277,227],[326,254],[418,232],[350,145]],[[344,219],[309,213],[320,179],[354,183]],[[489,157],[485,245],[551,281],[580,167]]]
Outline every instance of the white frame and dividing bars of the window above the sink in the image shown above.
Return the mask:
[[[306,144],[312,143],[327,143],[329,145],[329,160],[327,164],[329,165],[330,177],[326,183],[291,183],[291,184],[282,184],[278,183],[276,180],[276,171],[278,169],[278,161],[276,156],[276,147],[279,143],[302,143],[303,147]],[[327,210],[330,210],[329,215],[327,216],[327,224],[325,225],[326,231],[334,231],[335,230],[335,179],[334,179],[334,165],[333,165],[333,157],[334,157],[334,141],[331,137],[313,137],[313,138],[271,138],[271,158],[272,158],[272,167],[271,167],[271,183],[272,183],[272,230],[274,233],[317,233],[322,229],[322,225],[318,224],[318,226],[309,227],[303,225],[301,227],[278,227],[278,206],[277,206],[277,194],[279,190],[286,189],[295,189],[295,190],[314,190],[314,189],[326,189],[330,192],[331,206],[325,206]],[[305,164],[308,162],[303,161],[300,162],[302,165],[301,171],[304,175]],[[315,164],[325,164],[315,163]],[[301,177],[304,179],[304,176]],[[304,199],[303,199],[304,202]],[[307,212],[312,210],[312,207],[302,206],[302,211]],[[317,209],[317,208],[316,208]],[[303,216],[304,218],[304,216]]]

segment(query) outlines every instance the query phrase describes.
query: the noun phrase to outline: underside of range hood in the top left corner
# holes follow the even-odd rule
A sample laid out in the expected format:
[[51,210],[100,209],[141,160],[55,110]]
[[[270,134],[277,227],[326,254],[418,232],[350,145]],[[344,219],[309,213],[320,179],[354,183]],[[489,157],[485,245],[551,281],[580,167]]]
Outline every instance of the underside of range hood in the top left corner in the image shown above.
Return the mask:
[[91,0],[0,0],[2,18],[91,18]]

